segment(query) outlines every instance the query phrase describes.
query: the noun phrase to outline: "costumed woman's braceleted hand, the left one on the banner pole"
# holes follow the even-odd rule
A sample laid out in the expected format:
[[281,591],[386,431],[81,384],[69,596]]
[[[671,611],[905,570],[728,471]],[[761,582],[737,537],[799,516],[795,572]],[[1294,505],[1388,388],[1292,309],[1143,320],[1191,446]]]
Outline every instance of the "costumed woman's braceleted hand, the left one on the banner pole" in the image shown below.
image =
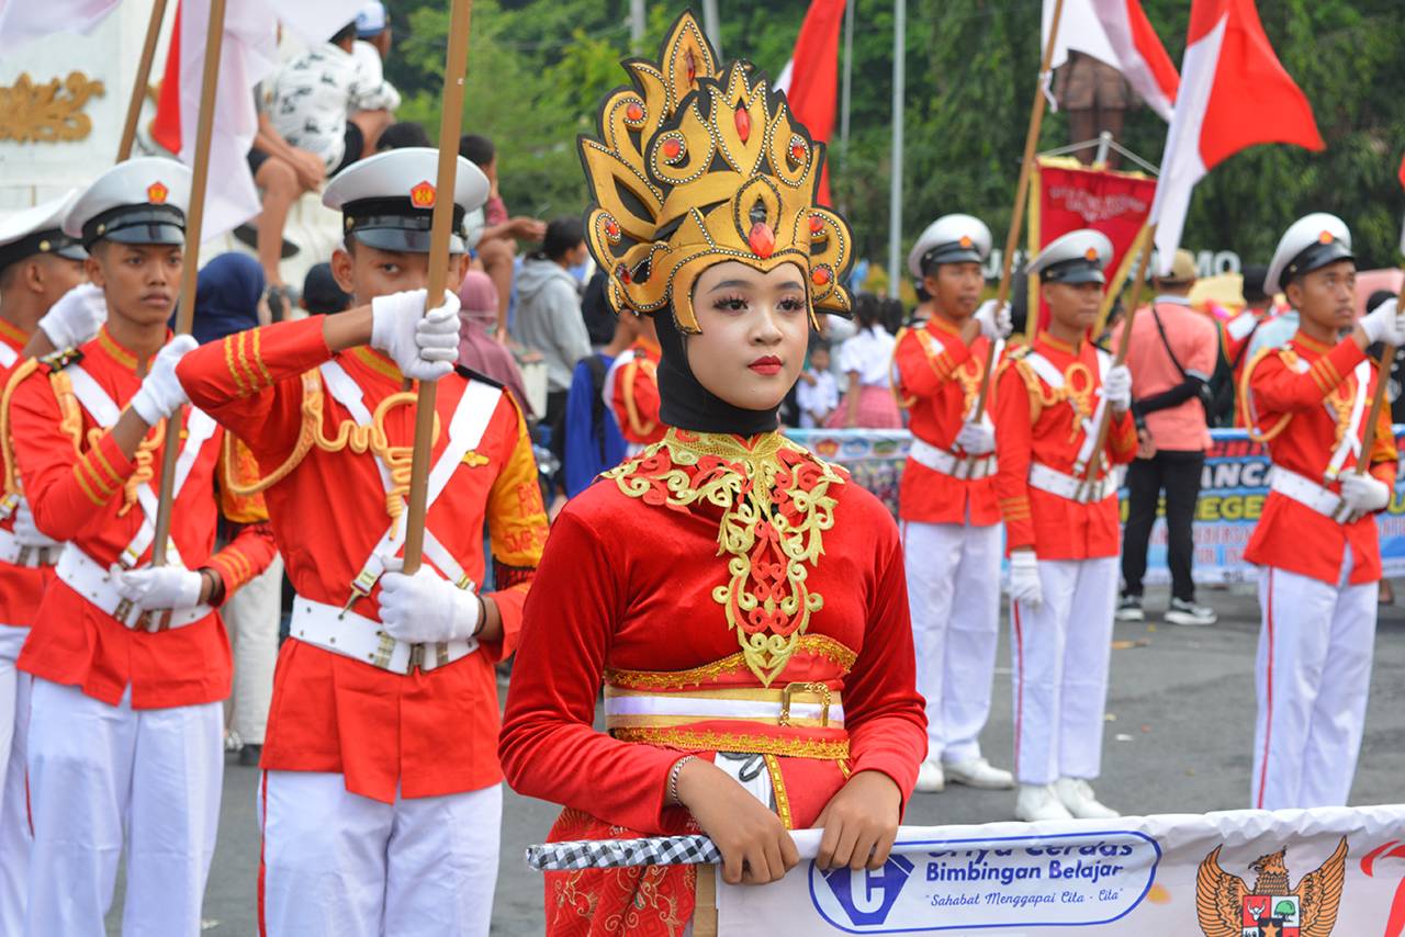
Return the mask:
[[722,881],[728,885],[766,885],[799,863],[780,818],[711,761],[688,760],[679,770],[677,792],[722,853]]

